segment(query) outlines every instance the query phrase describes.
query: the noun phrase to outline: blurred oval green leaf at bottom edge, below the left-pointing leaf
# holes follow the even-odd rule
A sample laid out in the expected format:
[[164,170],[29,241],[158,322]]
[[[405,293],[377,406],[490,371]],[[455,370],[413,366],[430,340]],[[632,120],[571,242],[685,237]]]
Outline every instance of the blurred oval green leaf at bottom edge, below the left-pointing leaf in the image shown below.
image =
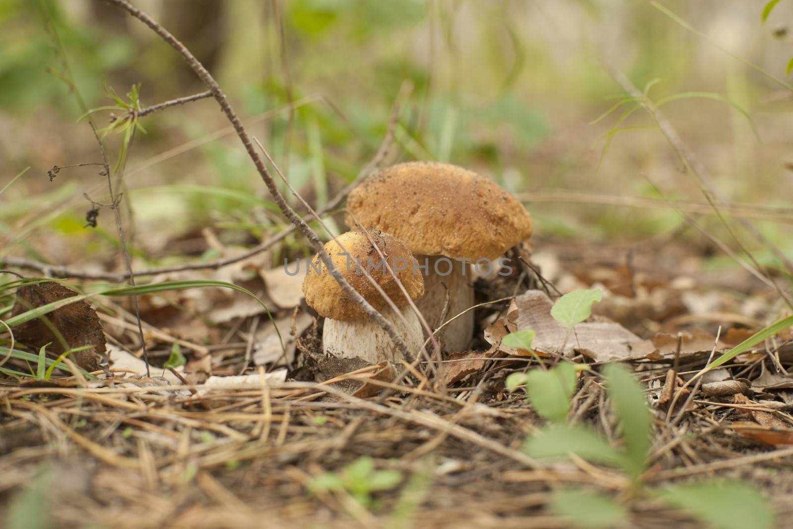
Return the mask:
[[583,489],[558,489],[551,496],[550,510],[584,529],[617,527],[628,511],[611,497]]

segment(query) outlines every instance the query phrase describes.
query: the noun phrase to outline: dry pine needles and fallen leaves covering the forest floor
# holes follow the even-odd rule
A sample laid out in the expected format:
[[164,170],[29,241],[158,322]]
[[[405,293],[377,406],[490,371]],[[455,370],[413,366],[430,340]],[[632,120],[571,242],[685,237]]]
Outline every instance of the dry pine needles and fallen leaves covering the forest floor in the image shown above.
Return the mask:
[[[759,329],[750,324],[777,315],[753,309],[734,317],[741,315],[737,300],[745,300],[746,293],[709,296],[703,287],[695,293],[699,297],[683,296],[681,290],[692,289],[687,278],[653,277],[649,270],[657,269],[642,269],[636,262],[630,269],[621,263],[603,263],[600,270],[589,266],[584,274],[564,253],[558,251],[554,283],[563,292],[600,289],[603,300],[593,305],[593,315],[568,332],[552,316],[557,293],[540,284],[493,286],[480,279],[477,290],[482,293],[517,286],[518,295],[477,309],[478,337],[469,351],[446,356],[440,386],[426,360],[412,367],[369,366],[324,355],[322,322],[303,303],[301,281],[270,269],[270,258],[225,271],[222,279],[246,286],[270,306],[286,355],[270,320],[236,292],[150,294],[141,297],[144,319],[153,327],[146,335],[154,376],[146,379],[134,333],[117,320],[100,320],[87,303],[67,305],[84,319],[93,314],[85,320],[90,325],[76,327],[93,328],[94,338],[104,322],[112,339],[107,352],[113,378],[97,371],[103,380],[86,386],[56,371],[63,386],[0,386],[6,402],[0,416],[0,473],[5,477],[0,493],[24,490],[44,460],[54,473],[75,464],[84,469],[85,487],[48,489],[47,501],[60,506],[54,514],[59,527],[109,517],[114,527],[255,527],[262,516],[283,527],[309,522],[349,527],[393,519],[401,512],[408,485],[420,481],[423,500],[400,515],[414,527],[512,527],[512,520],[515,527],[537,527],[529,520],[542,527],[566,527],[544,510],[550,505],[551,513],[561,512],[552,503],[549,484],[620,489],[626,482],[594,467],[538,465],[528,458],[523,441],[545,420],[520,392],[509,393],[504,384],[509,374],[526,371],[527,364],[567,358],[595,371],[603,363],[626,362],[646,381],[661,443],[653,456],[658,475],[696,477],[715,471],[754,481],[775,491],[780,519],[793,512],[793,474],[784,458],[740,463],[742,458],[772,456],[773,450],[793,443],[793,421],[787,415],[793,406],[788,395],[793,378],[779,369],[793,364],[789,334],[709,372],[700,385],[684,387],[708,357]],[[214,272],[180,278],[199,276],[220,278]],[[764,292],[755,289],[749,295],[762,299]],[[21,299],[29,300],[31,294],[23,291]],[[43,299],[31,305],[40,306]],[[114,305],[103,307],[103,317],[109,310],[112,317],[127,320],[121,309],[113,316]],[[175,319],[158,326],[163,311]],[[69,318],[51,317],[56,328],[63,327],[70,347],[97,343],[73,337],[70,325],[75,324]],[[670,326],[669,321],[676,323]],[[534,331],[530,348],[503,343],[505,336],[527,329]],[[163,370],[174,343],[187,364]],[[539,374],[537,369],[531,372]],[[408,374],[395,386],[403,370]],[[615,417],[602,405],[596,375],[581,371],[574,392],[568,418],[613,439]],[[545,413],[558,420],[565,410]],[[47,418],[48,425],[33,420],[36,414]],[[682,431],[687,435],[681,436]],[[48,442],[52,435],[66,443],[65,453]],[[312,492],[315,479],[343,472],[362,455],[372,458],[378,472],[399,471],[402,480],[372,490],[367,497],[374,501],[364,510],[350,503],[344,489]],[[92,489],[101,489],[112,503],[93,499],[86,493]],[[178,490],[190,493],[174,496]],[[592,504],[598,508],[603,504]],[[627,510],[636,527],[657,527],[650,520],[700,527],[694,518],[657,505],[639,502]]]

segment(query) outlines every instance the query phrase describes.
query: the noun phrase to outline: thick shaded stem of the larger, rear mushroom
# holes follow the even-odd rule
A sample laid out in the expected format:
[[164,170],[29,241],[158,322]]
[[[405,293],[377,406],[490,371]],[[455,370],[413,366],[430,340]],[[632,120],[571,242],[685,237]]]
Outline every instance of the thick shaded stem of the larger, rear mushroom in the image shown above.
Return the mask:
[[[449,290],[449,311],[443,321],[473,306],[476,278],[469,264],[442,255],[416,255],[416,261],[419,266],[427,263],[426,269],[417,269],[424,277],[424,295],[416,301],[416,307],[432,328],[443,323],[439,319],[446,303],[446,289]],[[473,336],[473,310],[451,321],[442,329],[442,334],[446,351],[465,351]]]

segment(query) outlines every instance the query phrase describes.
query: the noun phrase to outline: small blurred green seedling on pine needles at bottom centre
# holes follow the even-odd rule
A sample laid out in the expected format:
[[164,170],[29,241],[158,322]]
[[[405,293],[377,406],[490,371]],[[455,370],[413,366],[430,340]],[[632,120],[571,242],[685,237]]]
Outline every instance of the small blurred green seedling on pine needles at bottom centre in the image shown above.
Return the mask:
[[378,490],[393,489],[402,481],[399,470],[377,470],[374,461],[368,456],[356,459],[340,472],[327,472],[317,476],[308,485],[312,493],[319,491],[347,491],[365,508],[376,504],[372,493]]

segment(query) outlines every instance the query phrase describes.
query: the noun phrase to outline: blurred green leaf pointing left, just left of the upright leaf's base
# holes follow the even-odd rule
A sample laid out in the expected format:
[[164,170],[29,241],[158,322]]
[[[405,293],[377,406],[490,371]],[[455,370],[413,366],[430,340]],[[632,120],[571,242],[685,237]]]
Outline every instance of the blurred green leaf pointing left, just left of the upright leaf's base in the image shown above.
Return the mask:
[[554,425],[526,440],[524,450],[532,458],[563,458],[576,454],[588,461],[622,466],[625,456],[588,427]]

